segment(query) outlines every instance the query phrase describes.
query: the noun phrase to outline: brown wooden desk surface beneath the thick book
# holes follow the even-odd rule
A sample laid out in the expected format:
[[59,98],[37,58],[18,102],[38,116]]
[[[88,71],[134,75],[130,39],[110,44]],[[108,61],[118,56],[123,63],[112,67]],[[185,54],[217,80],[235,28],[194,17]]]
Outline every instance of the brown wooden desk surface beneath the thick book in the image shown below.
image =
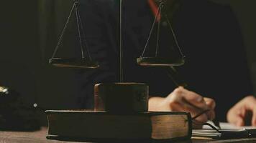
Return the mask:
[[[0,131],[0,143],[72,143],[56,140],[46,139],[47,127],[42,127],[37,132],[4,132]],[[227,142],[256,142],[256,138],[253,139],[229,139],[229,140],[206,140],[206,139],[192,139],[191,141],[183,141],[178,143],[227,143]]]

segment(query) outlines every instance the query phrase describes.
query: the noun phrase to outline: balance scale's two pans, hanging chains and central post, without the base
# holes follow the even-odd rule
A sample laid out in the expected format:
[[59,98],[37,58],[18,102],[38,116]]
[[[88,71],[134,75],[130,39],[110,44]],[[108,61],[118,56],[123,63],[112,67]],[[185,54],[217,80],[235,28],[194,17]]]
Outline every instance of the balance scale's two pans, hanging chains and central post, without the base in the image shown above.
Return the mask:
[[[178,44],[177,38],[175,36],[175,32],[173,30],[173,27],[170,23],[170,20],[168,19],[167,14],[165,14],[165,11],[163,11],[163,8],[165,6],[165,1],[164,0],[157,0],[159,1],[159,7],[157,10],[157,14],[155,16],[155,20],[153,21],[152,28],[150,30],[150,34],[147,38],[147,42],[145,44],[145,48],[142,51],[142,55],[137,58],[137,64],[140,66],[161,66],[161,67],[170,67],[173,69],[173,66],[181,66],[185,63],[185,56],[183,55],[183,52],[180,49],[180,46]],[[65,34],[66,29],[68,28],[68,24],[70,23],[70,19],[72,17],[73,12],[76,13],[76,23],[78,26],[78,36],[79,36],[79,41],[80,41],[80,48],[81,48],[81,59],[75,59],[75,58],[57,58],[55,57],[58,49],[60,48],[60,44],[63,41],[63,36]],[[157,21],[157,17],[160,17],[160,20]],[[180,52],[180,59],[172,59],[170,58],[163,58],[163,57],[158,57],[157,56],[157,50],[159,49],[159,42],[160,42],[160,24],[162,22],[162,19],[166,19],[168,26],[170,28],[171,34],[173,34],[173,38],[175,41],[175,46],[178,48],[178,51]],[[150,41],[150,38],[152,36],[152,31],[155,28],[155,25],[158,23],[157,26],[157,44],[156,44],[156,50],[155,50],[155,57],[144,57],[145,51],[147,50],[148,43]],[[120,0],[120,58],[119,58],[119,63],[120,63],[120,82],[123,82],[123,46],[122,46],[122,0]],[[58,44],[55,48],[55,51],[52,54],[52,58],[49,60],[49,63],[52,64],[53,66],[59,66],[59,67],[74,67],[74,68],[83,68],[83,69],[97,69],[99,68],[99,64],[97,61],[93,61],[88,44],[86,40],[83,40],[81,36],[85,36],[85,33],[83,31],[83,23],[81,21],[81,15],[79,12],[79,1],[78,0],[73,0],[73,7],[70,11],[70,14],[68,16],[68,20],[65,23],[64,29],[60,35]],[[87,52],[88,57],[85,57],[84,51]],[[175,69],[173,69],[175,71]]]

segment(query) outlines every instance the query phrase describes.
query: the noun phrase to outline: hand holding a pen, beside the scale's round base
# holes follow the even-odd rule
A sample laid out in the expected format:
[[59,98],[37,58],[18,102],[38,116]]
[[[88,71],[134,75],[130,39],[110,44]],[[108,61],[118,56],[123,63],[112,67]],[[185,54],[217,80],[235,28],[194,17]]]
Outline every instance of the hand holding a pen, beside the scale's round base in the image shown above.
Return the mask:
[[175,111],[175,112],[190,112],[192,117],[200,114],[206,109],[210,109],[206,114],[202,114],[196,118],[196,122],[204,123],[212,120],[215,117],[214,99],[201,97],[195,92],[188,91],[183,87],[178,87],[168,97],[152,97],[149,101],[150,111]]

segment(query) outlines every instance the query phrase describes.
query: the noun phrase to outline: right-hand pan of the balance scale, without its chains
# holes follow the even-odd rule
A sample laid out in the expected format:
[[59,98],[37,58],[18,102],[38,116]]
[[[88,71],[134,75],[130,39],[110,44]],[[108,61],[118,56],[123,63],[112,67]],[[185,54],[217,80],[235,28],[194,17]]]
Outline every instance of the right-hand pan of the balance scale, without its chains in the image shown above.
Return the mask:
[[167,59],[160,57],[140,57],[137,64],[140,66],[181,66],[185,63],[184,58]]

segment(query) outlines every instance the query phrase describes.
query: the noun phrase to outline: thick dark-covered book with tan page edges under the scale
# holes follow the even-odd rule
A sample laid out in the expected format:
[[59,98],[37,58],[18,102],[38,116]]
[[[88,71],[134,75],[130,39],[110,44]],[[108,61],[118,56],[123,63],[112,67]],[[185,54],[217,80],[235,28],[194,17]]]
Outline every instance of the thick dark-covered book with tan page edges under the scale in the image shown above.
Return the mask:
[[47,139],[72,141],[191,139],[191,115],[186,112],[47,111]]

